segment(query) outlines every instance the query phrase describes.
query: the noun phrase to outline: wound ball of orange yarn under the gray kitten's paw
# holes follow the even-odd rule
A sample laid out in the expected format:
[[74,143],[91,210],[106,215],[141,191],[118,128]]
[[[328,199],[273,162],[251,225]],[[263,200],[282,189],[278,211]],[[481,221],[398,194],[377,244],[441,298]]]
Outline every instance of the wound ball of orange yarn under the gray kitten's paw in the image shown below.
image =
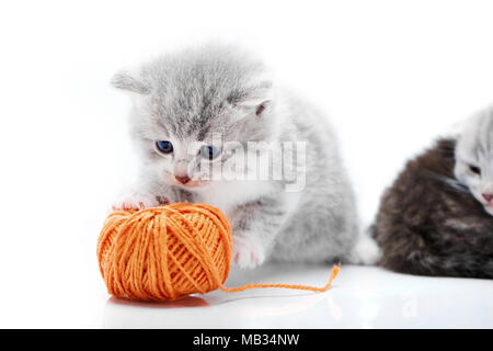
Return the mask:
[[219,210],[176,203],[110,214],[98,259],[110,294],[173,301],[222,286],[231,248],[231,228]]

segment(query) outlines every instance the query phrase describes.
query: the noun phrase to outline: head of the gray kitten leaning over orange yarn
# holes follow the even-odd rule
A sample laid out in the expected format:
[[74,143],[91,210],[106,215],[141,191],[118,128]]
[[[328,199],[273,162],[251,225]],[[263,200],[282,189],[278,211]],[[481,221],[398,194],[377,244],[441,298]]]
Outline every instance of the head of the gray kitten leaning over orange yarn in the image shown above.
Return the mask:
[[225,143],[268,139],[271,80],[262,63],[238,48],[209,45],[165,55],[117,73],[112,83],[133,97],[133,136],[145,170],[158,181],[202,188],[210,170],[228,161]]

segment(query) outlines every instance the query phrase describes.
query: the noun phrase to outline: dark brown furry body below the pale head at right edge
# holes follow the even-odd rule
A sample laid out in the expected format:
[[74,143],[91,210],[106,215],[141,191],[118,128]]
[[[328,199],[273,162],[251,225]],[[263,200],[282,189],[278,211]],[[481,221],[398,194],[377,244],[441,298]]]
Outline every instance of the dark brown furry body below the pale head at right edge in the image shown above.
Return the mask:
[[411,160],[372,226],[380,264],[402,273],[493,278],[493,216],[454,176],[454,139]]

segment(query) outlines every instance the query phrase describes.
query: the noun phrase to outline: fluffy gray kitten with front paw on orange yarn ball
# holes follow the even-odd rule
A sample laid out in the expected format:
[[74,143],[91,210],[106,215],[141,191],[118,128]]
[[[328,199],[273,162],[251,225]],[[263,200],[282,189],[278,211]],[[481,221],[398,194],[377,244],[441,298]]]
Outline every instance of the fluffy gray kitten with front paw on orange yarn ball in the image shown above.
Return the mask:
[[[325,117],[276,89],[261,61],[209,45],[162,56],[112,82],[131,92],[133,137],[142,156],[139,183],[115,210],[214,205],[230,220],[240,267],[376,259],[377,247],[359,235]],[[262,157],[267,162],[260,167],[250,162]]]

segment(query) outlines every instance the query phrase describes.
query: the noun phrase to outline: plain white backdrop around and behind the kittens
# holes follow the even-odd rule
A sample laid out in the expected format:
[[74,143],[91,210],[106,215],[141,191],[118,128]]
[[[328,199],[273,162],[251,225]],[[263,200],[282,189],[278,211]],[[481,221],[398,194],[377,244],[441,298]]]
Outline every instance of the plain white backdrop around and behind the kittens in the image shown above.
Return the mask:
[[[362,217],[404,160],[493,102],[489,1],[3,1],[0,327],[101,327],[95,242],[131,181],[114,71],[238,42],[318,104]],[[490,282],[491,283],[491,282]]]

